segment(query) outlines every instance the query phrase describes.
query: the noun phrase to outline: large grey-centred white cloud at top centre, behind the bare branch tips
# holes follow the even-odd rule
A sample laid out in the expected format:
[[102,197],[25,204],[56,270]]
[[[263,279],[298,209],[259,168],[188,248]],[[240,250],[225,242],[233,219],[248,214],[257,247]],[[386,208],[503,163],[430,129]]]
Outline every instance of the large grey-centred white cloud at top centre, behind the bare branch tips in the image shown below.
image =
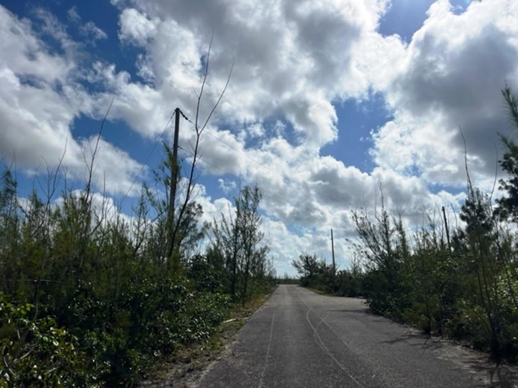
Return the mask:
[[192,113],[192,89],[200,86],[213,31],[210,83],[202,108],[207,111],[218,97],[234,60],[232,82],[214,121],[286,120],[296,132],[296,143],[317,152],[338,135],[331,102],[361,95],[368,86],[364,74],[353,69],[352,55],[358,41],[376,35],[387,2],[195,6],[130,1],[118,6],[120,39],[146,50],[137,65],[145,67],[142,73],[164,99],[177,101]]

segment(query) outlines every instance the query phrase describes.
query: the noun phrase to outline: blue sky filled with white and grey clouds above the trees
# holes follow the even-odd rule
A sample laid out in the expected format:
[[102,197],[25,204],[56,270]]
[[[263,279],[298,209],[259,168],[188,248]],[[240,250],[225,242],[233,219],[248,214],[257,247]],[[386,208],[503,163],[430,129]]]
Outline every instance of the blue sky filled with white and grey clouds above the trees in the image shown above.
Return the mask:
[[[351,212],[379,208],[380,188],[409,230],[458,210],[459,128],[473,183],[490,191],[501,176],[498,133],[515,136],[500,94],[518,87],[515,0],[1,0],[0,157],[20,196],[42,191],[60,157],[81,188],[113,101],[95,190],[131,217],[172,112],[194,117],[212,36],[201,117],[234,65],[196,199],[211,221],[240,185],[259,186],[279,275],[303,251],[329,261],[331,228],[347,268]],[[182,120],[184,163],[193,133]]]

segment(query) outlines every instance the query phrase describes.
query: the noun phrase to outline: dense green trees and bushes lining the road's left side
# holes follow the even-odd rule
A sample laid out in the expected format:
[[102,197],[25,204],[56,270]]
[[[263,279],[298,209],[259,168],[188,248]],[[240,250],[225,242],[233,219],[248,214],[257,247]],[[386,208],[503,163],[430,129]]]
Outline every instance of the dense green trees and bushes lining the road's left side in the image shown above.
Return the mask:
[[90,180],[83,190],[64,181],[55,199],[59,170],[49,172],[45,199],[20,199],[11,171],[1,176],[0,387],[132,385],[157,357],[206,340],[232,303],[269,287],[260,191],[243,188],[229,214],[232,260],[218,223],[204,253],[211,227],[182,198],[181,180],[172,201],[182,211],[168,212],[175,161],[166,154],[131,217]]

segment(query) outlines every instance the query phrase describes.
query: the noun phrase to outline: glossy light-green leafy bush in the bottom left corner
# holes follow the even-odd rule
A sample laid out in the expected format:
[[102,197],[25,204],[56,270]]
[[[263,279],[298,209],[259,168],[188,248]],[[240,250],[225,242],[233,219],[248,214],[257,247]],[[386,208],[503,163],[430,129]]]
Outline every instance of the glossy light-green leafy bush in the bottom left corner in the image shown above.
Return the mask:
[[51,317],[33,319],[35,309],[0,293],[0,386],[100,386],[77,337]]

